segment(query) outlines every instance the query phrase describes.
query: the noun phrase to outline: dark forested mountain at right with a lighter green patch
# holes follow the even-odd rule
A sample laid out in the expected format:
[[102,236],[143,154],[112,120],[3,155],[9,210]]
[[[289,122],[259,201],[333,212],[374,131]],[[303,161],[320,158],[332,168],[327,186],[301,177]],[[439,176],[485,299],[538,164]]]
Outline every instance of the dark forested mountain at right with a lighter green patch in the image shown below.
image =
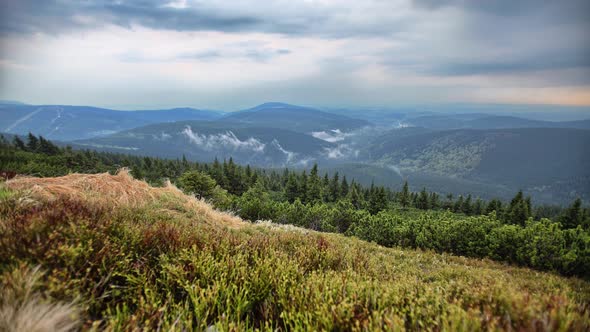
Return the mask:
[[369,151],[374,162],[402,174],[526,189],[548,199],[590,198],[589,130],[405,128],[375,139]]

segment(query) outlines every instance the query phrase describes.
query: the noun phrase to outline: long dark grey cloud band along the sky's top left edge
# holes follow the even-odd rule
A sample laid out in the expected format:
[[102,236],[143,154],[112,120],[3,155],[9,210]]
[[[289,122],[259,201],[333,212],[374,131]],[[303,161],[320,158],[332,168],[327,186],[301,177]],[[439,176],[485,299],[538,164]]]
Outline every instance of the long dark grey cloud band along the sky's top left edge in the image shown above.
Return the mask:
[[[176,31],[264,32],[293,35],[346,37],[380,35],[402,30],[408,22],[373,22],[371,17],[350,23],[345,6],[316,6],[293,2],[287,9],[281,3],[192,1],[186,8],[157,0],[121,1],[34,1],[4,0],[0,3],[0,33],[64,33],[104,24],[122,27],[140,25]],[[341,16],[344,16],[341,17]]]

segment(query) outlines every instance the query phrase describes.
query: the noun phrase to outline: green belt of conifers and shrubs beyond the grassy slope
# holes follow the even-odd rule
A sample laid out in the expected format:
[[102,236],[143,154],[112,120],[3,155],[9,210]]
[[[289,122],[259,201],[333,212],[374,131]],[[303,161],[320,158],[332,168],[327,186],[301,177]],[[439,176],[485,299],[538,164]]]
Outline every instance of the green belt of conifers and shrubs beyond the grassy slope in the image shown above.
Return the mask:
[[587,278],[590,271],[590,209],[579,199],[567,209],[534,206],[522,192],[509,202],[468,196],[441,197],[365,187],[354,179],[308,171],[265,171],[232,159],[194,163],[122,154],[75,151],[30,135],[2,143],[0,168],[18,174],[58,176],[70,172],[115,172],[154,184],[170,179],[187,193],[244,219],[272,220],[324,232],[339,232],[385,246],[432,249],[489,257],[540,270]]

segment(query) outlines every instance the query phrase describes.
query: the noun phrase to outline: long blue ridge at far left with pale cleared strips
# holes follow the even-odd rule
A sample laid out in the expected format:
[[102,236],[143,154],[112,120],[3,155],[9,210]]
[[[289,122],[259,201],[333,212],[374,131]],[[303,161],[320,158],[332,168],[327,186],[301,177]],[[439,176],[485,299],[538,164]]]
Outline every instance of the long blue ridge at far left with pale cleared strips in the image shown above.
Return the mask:
[[174,108],[154,111],[116,111],[89,106],[0,105],[0,131],[32,132],[56,140],[104,136],[151,123],[179,120],[214,120],[215,111]]

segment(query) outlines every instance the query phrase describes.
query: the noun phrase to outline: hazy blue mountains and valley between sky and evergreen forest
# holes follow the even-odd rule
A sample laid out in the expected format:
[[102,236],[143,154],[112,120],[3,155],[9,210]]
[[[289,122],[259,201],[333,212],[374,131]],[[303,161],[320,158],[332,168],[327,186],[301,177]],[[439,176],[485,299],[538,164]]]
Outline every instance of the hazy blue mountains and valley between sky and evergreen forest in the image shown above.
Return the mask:
[[32,132],[81,149],[202,162],[233,158],[269,169],[318,163],[367,185],[399,188],[407,180],[414,190],[442,195],[506,200],[522,189],[543,203],[590,201],[588,120],[415,110],[356,119],[276,102],[226,113],[13,104],[0,112],[10,115],[0,122],[7,134]]

